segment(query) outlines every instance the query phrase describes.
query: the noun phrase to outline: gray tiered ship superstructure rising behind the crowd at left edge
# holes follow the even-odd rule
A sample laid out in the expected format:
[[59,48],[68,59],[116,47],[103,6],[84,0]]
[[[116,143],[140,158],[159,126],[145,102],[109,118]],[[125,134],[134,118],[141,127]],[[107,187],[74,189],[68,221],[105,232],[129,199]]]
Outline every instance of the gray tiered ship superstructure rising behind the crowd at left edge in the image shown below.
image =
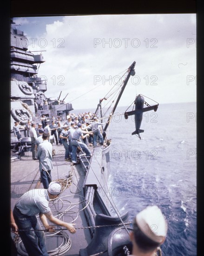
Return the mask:
[[[33,54],[28,50],[28,39],[23,31],[11,20],[11,132],[14,121],[25,125],[28,120],[40,120],[41,115],[47,119],[60,115],[66,119],[72,104],[46,97],[47,84],[38,71],[44,63],[43,55]],[[11,136],[12,137],[12,136]]]

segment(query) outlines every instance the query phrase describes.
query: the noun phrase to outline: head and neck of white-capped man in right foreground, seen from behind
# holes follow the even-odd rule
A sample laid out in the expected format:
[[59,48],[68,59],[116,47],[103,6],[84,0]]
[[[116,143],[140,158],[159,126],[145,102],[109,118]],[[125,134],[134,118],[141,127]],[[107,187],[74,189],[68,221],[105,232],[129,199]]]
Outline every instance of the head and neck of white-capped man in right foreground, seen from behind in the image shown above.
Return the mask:
[[167,222],[157,205],[148,206],[133,220],[132,255],[155,256],[161,244],[165,242]]

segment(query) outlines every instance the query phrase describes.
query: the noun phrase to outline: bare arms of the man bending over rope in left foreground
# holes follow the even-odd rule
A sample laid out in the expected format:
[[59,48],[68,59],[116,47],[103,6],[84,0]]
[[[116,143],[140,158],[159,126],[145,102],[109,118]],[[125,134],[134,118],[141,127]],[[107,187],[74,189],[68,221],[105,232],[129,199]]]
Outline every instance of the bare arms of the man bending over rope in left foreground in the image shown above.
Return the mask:
[[[65,228],[68,229],[68,230],[70,231],[70,233],[72,233],[72,234],[76,232],[76,229],[75,229],[74,226],[73,226],[73,225],[75,225],[75,224],[71,224],[71,223],[67,223],[67,222],[63,222],[63,221],[59,220],[58,218],[56,218],[56,217],[53,216],[53,214],[52,214],[51,211],[48,212],[48,213],[46,213],[46,214],[40,213],[40,214],[39,214],[39,218],[40,218],[40,221],[43,223],[44,227],[45,227],[46,229],[49,229],[49,231],[50,231],[50,229],[52,229],[53,227],[48,224],[47,219],[48,219],[49,221],[53,222],[53,223],[56,224],[56,225],[65,227]],[[46,219],[46,218],[47,218],[47,219]]]

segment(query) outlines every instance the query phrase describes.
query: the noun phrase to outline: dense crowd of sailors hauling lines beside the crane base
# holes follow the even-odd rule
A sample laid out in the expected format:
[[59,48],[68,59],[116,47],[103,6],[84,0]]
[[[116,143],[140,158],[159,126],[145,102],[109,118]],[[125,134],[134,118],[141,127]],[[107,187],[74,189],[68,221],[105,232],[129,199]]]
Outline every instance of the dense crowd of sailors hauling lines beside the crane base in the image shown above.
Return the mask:
[[[99,122],[96,116],[93,115],[67,115],[66,121],[62,125],[60,117],[57,123],[52,121],[52,124],[46,124],[46,128],[50,128],[51,135],[55,138],[56,145],[63,144],[65,148],[65,161],[77,163],[77,149],[91,156],[92,152],[89,146],[96,147],[97,141],[100,145],[104,144],[103,123]],[[53,138],[52,138],[53,139]]]

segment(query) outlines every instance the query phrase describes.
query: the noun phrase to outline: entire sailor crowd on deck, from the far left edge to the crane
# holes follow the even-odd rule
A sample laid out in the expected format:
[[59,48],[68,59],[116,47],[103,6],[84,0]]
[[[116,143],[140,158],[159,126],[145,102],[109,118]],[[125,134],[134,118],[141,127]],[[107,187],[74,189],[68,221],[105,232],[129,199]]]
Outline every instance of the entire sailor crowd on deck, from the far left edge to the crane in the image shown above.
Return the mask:
[[103,124],[91,112],[67,115],[66,121],[63,121],[61,116],[56,118],[53,116],[52,120],[49,120],[42,115],[38,124],[28,121],[25,126],[20,127],[16,121],[13,133],[20,140],[20,128],[24,128],[24,137],[31,137],[33,160],[37,160],[37,146],[42,142],[42,134],[47,133],[49,142],[64,146],[65,161],[72,161],[76,164],[77,149],[86,156],[91,156],[92,152],[88,146],[96,147],[97,143],[104,144]]

